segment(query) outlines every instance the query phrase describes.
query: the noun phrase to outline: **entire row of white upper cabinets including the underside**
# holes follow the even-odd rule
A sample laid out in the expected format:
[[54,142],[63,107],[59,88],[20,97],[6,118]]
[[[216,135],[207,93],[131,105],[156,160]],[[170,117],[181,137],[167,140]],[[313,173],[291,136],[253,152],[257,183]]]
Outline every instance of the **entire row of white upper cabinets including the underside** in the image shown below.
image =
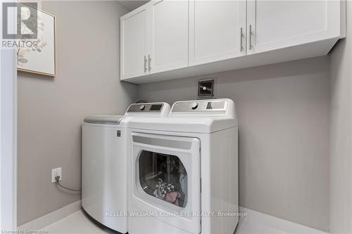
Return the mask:
[[153,0],[121,18],[121,78],[137,84],[324,56],[345,0]]

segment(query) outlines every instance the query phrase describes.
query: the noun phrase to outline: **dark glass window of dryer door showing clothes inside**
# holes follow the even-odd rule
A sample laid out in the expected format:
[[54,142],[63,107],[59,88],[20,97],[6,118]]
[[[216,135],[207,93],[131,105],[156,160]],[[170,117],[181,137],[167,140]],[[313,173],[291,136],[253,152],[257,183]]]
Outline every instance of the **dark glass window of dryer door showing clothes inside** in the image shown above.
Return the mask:
[[187,171],[179,157],[142,150],[139,182],[147,194],[186,207]]

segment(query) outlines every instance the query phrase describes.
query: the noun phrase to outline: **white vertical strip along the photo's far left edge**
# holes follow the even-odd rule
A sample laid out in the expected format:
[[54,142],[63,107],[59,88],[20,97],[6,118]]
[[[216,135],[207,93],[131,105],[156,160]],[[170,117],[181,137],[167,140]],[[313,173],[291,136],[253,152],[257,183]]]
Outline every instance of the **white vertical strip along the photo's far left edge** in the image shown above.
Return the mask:
[[15,51],[0,52],[0,223],[1,230],[16,227],[16,84]]

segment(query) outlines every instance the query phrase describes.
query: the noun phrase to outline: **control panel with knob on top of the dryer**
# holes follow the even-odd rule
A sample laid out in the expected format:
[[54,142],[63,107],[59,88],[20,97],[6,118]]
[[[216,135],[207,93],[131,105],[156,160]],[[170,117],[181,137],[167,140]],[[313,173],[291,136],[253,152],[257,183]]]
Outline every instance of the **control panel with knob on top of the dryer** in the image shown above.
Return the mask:
[[227,100],[180,101],[172,106],[172,112],[213,112],[227,110]]

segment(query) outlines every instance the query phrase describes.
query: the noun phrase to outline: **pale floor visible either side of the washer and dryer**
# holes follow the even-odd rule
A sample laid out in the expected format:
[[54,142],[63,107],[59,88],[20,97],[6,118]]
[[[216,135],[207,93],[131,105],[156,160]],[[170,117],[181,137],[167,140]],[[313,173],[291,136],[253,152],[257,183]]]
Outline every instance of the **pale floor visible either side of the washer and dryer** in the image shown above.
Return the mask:
[[[56,223],[51,224],[42,228],[42,230],[48,230],[49,233],[114,233],[111,230],[101,228],[101,226],[96,225],[91,221],[82,211],[75,212],[70,216],[65,217],[57,221]],[[236,234],[283,234],[284,232],[269,228],[263,224],[249,221],[246,217],[241,218],[239,221],[239,226],[237,227]]]

